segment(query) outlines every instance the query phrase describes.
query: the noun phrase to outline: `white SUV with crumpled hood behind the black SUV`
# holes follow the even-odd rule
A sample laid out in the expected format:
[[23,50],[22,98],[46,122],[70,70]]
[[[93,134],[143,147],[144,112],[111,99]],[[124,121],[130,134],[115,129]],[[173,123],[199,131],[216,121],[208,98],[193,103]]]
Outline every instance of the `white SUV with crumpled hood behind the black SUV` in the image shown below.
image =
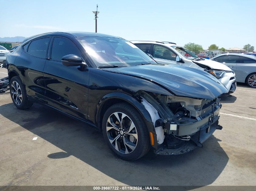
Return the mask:
[[[184,65],[203,69],[214,75],[228,89],[231,94],[236,89],[235,73],[228,66],[209,59],[200,58],[188,49],[171,42],[132,40],[145,53],[163,64]],[[179,59],[176,61],[176,56]]]

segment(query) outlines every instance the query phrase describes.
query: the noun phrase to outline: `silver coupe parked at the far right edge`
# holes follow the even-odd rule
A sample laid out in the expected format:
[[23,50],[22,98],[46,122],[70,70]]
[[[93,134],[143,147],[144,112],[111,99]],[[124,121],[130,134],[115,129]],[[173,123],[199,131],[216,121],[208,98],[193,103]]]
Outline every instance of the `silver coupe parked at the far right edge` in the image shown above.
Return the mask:
[[213,57],[211,60],[225,64],[236,74],[236,81],[246,83],[256,88],[256,57],[240,54],[227,53]]

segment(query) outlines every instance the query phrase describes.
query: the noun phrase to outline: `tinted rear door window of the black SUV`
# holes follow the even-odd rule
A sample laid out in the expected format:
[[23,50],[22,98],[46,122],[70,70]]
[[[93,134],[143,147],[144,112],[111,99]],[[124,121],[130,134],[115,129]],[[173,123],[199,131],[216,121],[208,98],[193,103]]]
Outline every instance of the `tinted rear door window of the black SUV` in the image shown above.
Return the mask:
[[28,46],[28,53],[39,58],[46,58],[50,38],[33,40]]

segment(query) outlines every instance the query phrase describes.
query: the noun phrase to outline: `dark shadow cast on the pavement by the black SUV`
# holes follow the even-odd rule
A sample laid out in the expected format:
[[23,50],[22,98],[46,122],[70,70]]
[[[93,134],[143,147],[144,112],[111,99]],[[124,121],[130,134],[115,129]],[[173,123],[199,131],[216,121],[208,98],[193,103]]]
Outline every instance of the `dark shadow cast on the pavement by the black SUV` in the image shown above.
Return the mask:
[[0,114],[19,125],[12,131],[23,127],[63,150],[47,155],[48,160],[73,155],[127,185],[205,186],[213,183],[228,163],[218,143],[221,140],[214,135],[203,148],[187,154],[154,156],[149,152],[136,161],[124,161],[111,153],[101,132],[50,108],[34,104],[29,110],[18,110],[8,103],[0,106]]

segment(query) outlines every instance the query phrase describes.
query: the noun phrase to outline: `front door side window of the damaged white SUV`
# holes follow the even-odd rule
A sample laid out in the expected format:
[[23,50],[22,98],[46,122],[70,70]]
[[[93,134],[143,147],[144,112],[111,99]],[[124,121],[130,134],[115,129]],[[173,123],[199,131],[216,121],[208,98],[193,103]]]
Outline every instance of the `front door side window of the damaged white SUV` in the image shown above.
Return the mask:
[[153,57],[154,58],[160,58],[160,59],[165,59],[165,60],[176,60],[176,55],[169,49],[159,46],[159,45],[154,45],[154,52],[153,52]]

